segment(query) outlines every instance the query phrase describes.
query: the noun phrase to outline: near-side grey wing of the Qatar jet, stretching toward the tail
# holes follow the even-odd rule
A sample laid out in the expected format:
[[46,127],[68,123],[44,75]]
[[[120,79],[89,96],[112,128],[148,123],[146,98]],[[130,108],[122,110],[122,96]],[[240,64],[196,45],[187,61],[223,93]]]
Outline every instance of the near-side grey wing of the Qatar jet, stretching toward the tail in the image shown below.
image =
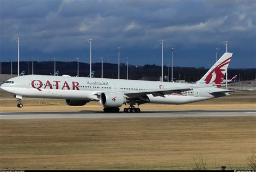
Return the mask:
[[152,94],[154,97],[160,96],[164,97],[165,94],[172,94],[172,93],[178,93],[182,94],[181,92],[184,91],[190,91],[194,88],[202,88],[202,87],[211,87],[211,86],[190,86],[190,87],[172,87],[172,88],[158,88],[158,89],[152,89],[152,90],[140,90],[140,91],[125,91],[124,95],[126,95],[129,98],[136,98],[139,96]]

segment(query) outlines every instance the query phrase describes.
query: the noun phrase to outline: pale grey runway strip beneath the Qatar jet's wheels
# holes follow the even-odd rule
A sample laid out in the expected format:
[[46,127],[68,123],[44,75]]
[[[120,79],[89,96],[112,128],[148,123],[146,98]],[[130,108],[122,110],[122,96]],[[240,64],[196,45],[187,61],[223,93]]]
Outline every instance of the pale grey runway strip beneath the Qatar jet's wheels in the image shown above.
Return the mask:
[[173,118],[211,116],[256,116],[255,110],[142,111],[140,113],[79,112],[1,112],[0,119],[75,119],[75,118]]

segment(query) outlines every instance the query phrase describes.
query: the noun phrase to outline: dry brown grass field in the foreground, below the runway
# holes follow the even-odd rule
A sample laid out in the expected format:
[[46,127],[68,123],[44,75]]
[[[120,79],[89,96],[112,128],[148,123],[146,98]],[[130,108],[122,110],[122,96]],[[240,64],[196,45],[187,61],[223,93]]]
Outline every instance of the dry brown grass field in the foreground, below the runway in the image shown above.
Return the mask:
[[250,169],[256,118],[1,120],[0,169]]

